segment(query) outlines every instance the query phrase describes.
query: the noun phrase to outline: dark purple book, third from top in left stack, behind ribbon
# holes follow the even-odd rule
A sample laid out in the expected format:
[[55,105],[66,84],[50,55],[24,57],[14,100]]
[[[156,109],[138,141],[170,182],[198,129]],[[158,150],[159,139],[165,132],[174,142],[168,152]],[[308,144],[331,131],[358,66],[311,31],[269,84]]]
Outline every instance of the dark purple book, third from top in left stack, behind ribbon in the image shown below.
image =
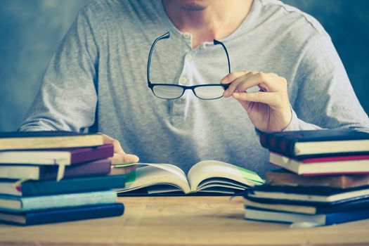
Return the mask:
[[[81,176],[101,176],[110,172],[110,160],[96,160],[65,166],[63,179]],[[58,166],[0,165],[0,179],[56,180]]]

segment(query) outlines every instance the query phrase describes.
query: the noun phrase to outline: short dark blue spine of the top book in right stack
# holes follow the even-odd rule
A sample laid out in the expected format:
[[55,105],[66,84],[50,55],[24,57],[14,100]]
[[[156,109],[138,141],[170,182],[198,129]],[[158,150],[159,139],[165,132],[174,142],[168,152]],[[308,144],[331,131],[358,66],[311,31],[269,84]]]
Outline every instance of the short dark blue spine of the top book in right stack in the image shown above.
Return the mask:
[[294,153],[294,139],[285,138],[276,134],[261,133],[260,143],[264,148],[270,151],[286,155],[288,157],[295,157]]

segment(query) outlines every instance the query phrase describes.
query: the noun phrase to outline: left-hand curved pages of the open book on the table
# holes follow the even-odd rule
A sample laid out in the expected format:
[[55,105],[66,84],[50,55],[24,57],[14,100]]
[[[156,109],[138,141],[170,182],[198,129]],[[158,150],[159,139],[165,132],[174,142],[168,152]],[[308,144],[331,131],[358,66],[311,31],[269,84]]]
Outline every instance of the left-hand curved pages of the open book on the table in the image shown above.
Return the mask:
[[[136,180],[131,183],[126,183],[126,187],[117,190],[117,192],[122,193],[159,184],[168,184],[171,186],[171,190],[178,187],[179,190],[183,190],[183,193],[190,192],[190,186],[186,179],[186,175],[179,167],[172,164],[151,163],[145,164],[144,167],[138,167],[136,169]],[[151,192],[155,191],[151,190]]]

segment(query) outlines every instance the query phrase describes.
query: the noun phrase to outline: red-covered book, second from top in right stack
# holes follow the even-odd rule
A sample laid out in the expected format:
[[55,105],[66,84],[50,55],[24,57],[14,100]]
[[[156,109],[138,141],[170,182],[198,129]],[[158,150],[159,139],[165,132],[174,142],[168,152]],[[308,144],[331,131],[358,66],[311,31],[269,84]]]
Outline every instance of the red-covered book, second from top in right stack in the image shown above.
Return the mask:
[[306,157],[297,160],[271,152],[269,162],[299,175],[369,174],[369,155]]

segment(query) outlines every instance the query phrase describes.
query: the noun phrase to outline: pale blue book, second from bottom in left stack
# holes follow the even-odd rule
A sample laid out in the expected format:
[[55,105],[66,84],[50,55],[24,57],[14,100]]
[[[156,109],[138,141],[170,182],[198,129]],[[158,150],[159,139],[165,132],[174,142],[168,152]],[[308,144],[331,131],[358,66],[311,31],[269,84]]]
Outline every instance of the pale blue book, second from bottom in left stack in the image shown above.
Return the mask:
[[113,190],[34,197],[15,197],[0,195],[0,211],[27,212],[62,207],[101,205],[117,202],[117,193]]

